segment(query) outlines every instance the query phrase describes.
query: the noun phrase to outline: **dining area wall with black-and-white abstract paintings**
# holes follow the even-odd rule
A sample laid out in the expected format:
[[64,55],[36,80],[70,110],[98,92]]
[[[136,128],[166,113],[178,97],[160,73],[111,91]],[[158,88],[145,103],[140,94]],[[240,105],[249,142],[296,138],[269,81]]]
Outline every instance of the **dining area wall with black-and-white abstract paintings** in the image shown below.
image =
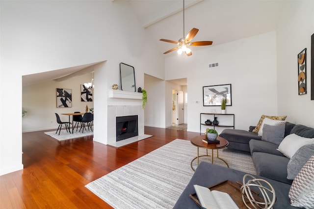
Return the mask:
[[[56,129],[58,124],[54,113],[59,114],[61,121],[68,121],[69,116],[61,113],[85,112],[86,105],[93,108],[94,102],[80,101],[80,84],[90,82],[91,78],[91,73],[87,73],[62,82],[48,81],[23,87],[22,104],[27,113],[22,119],[22,131]],[[56,88],[72,90],[72,107],[56,108]]]

